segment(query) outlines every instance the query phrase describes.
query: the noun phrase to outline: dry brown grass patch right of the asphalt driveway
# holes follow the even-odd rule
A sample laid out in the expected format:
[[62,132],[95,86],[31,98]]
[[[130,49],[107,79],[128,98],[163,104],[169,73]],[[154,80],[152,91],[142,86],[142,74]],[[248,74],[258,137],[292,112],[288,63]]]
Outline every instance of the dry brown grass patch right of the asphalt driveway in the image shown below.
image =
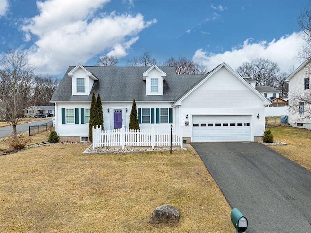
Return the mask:
[[311,130],[289,126],[269,129],[274,140],[287,143],[269,147],[311,171]]

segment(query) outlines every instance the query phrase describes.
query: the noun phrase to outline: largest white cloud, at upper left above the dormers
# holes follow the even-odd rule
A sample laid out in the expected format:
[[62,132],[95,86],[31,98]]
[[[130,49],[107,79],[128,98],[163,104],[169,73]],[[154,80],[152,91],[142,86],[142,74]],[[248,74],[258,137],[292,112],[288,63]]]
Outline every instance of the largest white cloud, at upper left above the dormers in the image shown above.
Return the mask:
[[[108,0],[51,0],[37,2],[40,14],[23,26],[26,39],[35,35],[30,62],[39,73],[58,74],[69,65],[86,63],[105,51],[120,58],[138,40],[138,33],[155,23],[144,21],[141,14],[101,14]],[[70,9],[70,10],[69,10]],[[28,35],[28,36],[27,36]]]

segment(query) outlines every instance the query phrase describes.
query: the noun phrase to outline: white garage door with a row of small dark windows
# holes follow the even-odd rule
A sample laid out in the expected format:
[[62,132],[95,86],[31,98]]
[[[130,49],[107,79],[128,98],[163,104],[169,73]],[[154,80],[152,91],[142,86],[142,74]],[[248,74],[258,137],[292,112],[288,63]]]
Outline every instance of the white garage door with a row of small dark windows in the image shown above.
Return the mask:
[[251,116],[193,116],[193,142],[251,141]]

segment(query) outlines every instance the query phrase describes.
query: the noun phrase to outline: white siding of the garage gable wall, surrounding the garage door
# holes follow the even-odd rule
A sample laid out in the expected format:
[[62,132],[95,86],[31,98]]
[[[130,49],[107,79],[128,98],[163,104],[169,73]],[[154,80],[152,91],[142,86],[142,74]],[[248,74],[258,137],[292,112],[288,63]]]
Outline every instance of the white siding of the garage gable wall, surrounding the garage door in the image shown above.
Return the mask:
[[[188,120],[186,120],[187,114]],[[259,118],[257,114],[260,115]],[[263,100],[224,67],[182,101],[180,125],[182,125],[183,137],[192,137],[193,115],[250,115],[251,141],[254,136],[262,136],[265,129]],[[184,126],[185,121],[189,121],[189,127]]]

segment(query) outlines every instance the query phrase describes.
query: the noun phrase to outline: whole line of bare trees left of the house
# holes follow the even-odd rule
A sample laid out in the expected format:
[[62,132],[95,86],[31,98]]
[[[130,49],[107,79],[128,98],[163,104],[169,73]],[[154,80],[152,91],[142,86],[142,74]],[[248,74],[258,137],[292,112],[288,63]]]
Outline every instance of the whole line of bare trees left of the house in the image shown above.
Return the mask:
[[0,120],[13,126],[23,117],[24,109],[49,103],[58,79],[52,75],[36,75],[26,52],[11,48],[0,54]]

